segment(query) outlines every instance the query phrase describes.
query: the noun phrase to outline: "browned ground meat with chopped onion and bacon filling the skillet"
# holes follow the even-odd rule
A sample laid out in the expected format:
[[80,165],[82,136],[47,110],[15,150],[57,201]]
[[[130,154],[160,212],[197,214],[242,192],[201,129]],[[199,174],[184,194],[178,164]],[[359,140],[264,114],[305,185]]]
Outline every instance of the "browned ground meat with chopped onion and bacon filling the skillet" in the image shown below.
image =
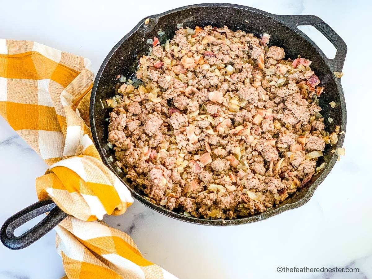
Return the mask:
[[285,59],[269,35],[180,28],[150,40],[136,73],[108,100],[109,145],[151,201],[185,215],[264,212],[307,183],[325,144],[311,61]]

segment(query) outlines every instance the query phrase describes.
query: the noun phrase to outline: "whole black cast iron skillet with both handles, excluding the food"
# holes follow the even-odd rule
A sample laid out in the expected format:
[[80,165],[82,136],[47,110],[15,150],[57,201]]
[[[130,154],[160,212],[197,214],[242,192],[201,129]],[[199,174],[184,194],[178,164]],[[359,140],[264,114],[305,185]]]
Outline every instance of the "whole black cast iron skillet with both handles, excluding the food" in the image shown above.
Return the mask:
[[[108,157],[114,156],[113,150],[106,150],[103,146],[107,143],[108,123],[104,120],[109,116],[109,110],[103,109],[101,100],[112,97],[118,83],[116,76],[132,76],[137,68],[138,58],[148,52],[149,45],[146,44],[147,38],[154,38],[157,31],[162,28],[165,35],[160,37],[161,43],[169,39],[177,29],[176,23],[184,23],[184,26],[195,27],[196,25],[212,25],[222,27],[227,25],[234,31],[241,29],[253,32],[261,37],[263,32],[271,35],[270,44],[283,47],[286,57],[296,58],[298,54],[312,61],[311,68],[319,76],[321,86],[325,86],[325,92],[320,98],[320,106],[323,108],[322,114],[325,119],[333,118],[330,124],[325,121],[328,131],[334,131],[336,125],[340,125],[341,131],[346,129],[346,105],[341,87],[340,79],[334,77],[333,72],[341,72],[346,57],[347,47],[345,42],[330,28],[323,20],[312,15],[273,15],[261,10],[234,4],[197,4],[178,9],[170,10],[159,15],[148,17],[148,24],[144,24],[145,19],[141,20],[135,28],[122,38],[118,44],[110,51],[105,61],[100,67],[94,81],[92,97],[90,100],[90,124],[94,144],[96,145],[103,162],[108,166],[121,181],[128,187],[132,195],[140,202],[149,206],[164,215],[186,222],[203,225],[238,225],[260,221],[277,215],[288,209],[293,209],[306,203],[315,189],[325,179],[336,162],[337,156],[331,153],[329,145],[324,151],[324,156],[320,163],[327,162],[327,167],[320,173],[312,177],[301,190],[298,190],[290,198],[276,208],[252,217],[233,219],[233,220],[205,220],[181,215],[170,211],[162,206],[150,202],[142,196],[139,190],[134,189],[131,183],[125,179],[122,173],[116,170],[115,162],[109,163]],[[312,25],[337,48],[336,57],[328,59],[315,43],[304,33],[299,31],[299,25]],[[144,41],[145,40],[145,41]],[[330,109],[328,103],[336,102],[336,108]],[[337,147],[342,147],[344,135],[339,136]],[[38,225],[31,230],[16,237],[14,230],[32,218],[43,213],[50,212]],[[28,208],[23,209],[9,218],[1,228],[1,241],[10,249],[21,249],[29,246],[34,241],[45,235],[67,214],[58,208],[51,200],[37,202]]]

